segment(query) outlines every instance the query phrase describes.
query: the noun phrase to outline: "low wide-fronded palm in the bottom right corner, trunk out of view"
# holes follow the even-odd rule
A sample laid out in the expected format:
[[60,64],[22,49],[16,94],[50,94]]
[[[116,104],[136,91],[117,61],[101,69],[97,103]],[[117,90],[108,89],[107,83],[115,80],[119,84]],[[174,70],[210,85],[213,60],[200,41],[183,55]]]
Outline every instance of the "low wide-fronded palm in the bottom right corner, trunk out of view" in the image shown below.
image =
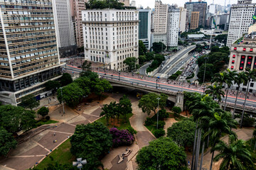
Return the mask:
[[234,135],[229,136],[228,144],[219,141],[214,151],[218,151],[219,154],[213,159],[214,162],[218,162],[220,159],[223,161],[220,164],[220,170],[224,169],[246,169],[245,164],[253,164],[251,154],[246,148],[245,141],[236,140]]

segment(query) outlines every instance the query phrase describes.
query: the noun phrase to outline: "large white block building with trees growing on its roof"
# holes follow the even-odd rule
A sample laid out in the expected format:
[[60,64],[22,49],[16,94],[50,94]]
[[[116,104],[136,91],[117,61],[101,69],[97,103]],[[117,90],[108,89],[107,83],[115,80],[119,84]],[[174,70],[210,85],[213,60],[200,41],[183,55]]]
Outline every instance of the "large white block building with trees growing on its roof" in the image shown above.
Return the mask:
[[124,60],[139,57],[139,12],[134,9],[82,11],[85,60],[127,70]]

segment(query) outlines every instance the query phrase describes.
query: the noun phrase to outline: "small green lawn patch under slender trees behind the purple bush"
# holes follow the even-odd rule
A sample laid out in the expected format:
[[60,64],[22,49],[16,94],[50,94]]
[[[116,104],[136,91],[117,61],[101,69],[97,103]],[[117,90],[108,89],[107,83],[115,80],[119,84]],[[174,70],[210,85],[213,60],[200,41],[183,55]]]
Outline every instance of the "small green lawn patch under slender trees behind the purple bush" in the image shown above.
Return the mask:
[[124,123],[124,117],[122,115],[119,117],[119,123],[117,123],[117,118],[115,118],[114,121],[112,120],[112,122],[110,122],[109,120],[108,126],[107,126],[107,119],[105,118],[105,116],[103,116],[102,118],[96,121],[103,123],[105,126],[107,126],[107,128],[113,128],[113,126],[115,126],[118,130],[125,130],[129,126],[131,126],[129,122],[129,118],[131,118],[132,115],[133,115],[132,113],[127,114],[127,123]]

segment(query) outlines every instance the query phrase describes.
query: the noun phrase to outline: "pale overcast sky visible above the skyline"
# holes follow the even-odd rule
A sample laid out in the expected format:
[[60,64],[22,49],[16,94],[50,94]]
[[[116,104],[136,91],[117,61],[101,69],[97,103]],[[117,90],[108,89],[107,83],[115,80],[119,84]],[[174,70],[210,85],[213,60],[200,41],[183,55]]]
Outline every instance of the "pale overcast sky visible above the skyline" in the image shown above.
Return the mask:
[[[132,0],[130,0],[131,3]],[[136,6],[142,5],[144,8],[146,8],[146,6],[149,6],[150,8],[154,8],[154,2],[155,0],[135,0],[136,1]],[[184,7],[184,4],[187,2],[188,0],[162,0],[162,2],[164,4],[177,4],[178,6],[182,6]],[[197,0],[192,0],[192,1],[197,1]],[[230,1],[230,4],[237,4],[238,1],[237,0],[226,0],[226,4],[228,4]],[[252,0],[253,3],[256,3],[256,0]],[[207,4],[212,4],[213,0],[207,0]],[[224,5],[225,4],[225,0],[215,0],[214,4],[220,4],[220,5]]]

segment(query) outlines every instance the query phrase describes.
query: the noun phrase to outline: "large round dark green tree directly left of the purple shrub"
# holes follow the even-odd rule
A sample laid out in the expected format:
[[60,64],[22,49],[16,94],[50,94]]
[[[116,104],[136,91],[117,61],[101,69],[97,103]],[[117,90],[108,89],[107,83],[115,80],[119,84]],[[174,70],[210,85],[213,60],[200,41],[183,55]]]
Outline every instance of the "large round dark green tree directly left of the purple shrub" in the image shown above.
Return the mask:
[[97,169],[99,159],[112,147],[112,136],[105,125],[99,122],[77,125],[75,133],[70,137],[70,152],[75,157],[87,159],[85,169]]

